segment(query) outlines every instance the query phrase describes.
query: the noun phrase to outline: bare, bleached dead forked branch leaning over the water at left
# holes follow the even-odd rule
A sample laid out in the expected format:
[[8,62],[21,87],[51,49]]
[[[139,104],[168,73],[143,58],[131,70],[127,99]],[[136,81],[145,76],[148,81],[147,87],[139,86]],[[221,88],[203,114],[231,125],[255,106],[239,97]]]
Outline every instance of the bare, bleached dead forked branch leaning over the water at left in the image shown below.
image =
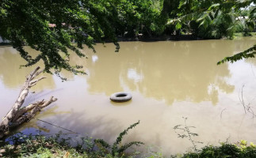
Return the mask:
[[13,104],[13,107],[6,114],[0,123],[0,139],[9,134],[10,129],[20,126],[24,122],[29,122],[37,112],[41,111],[42,108],[47,107],[49,104],[55,102],[57,99],[51,96],[49,100],[40,100],[36,103],[29,104],[26,107],[21,107],[25,101],[25,97],[28,96],[29,88],[36,85],[38,81],[43,80],[46,77],[40,77],[35,79],[43,70],[40,70],[40,67],[36,67],[29,75],[26,76],[26,81],[21,92],[17,97],[16,102]]

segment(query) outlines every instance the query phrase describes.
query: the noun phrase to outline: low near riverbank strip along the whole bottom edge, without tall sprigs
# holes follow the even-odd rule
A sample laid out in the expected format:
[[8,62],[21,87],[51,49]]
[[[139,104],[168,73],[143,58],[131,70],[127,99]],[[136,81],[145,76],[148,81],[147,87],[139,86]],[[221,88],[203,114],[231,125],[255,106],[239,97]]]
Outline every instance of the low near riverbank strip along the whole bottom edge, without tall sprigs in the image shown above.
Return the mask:
[[71,138],[62,137],[61,134],[56,136],[45,137],[43,135],[26,136],[17,134],[11,137],[12,145],[6,144],[0,149],[0,156],[2,157],[63,157],[63,158],[80,158],[80,157],[147,157],[147,158],[244,158],[256,157],[256,147],[253,143],[240,141],[237,144],[220,143],[219,146],[207,145],[203,149],[185,152],[184,154],[176,154],[170,156],[163,156],[161,152],[147,152],[147,153],[125,153],[116,152],[115,154],[105,149],[108,145],[94,144],[90,138],[82,138],[82,143],[71,145]]

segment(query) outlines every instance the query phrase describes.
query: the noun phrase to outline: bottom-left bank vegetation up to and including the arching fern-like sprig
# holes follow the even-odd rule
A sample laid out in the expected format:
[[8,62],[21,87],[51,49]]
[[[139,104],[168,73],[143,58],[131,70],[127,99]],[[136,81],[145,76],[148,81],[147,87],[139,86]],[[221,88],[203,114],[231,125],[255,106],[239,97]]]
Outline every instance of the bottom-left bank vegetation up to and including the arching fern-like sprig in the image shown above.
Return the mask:
[[[55,136],[45,137],[44,135],[24,135],[15,134],[2,143],[0,148],[0,156],[2,157],[128,157],[124,153],[126,149],[132,145],[143,145],[143,142],[132,141],[130,143],[120,145],[124,135],[128,134],[137,126],[136,122],[121,132],[113,145],[109,145],[102,139],[92,140],[92,137],[82,137],[81,142],[71,145],[71,137],[65,137],[66,134],[56,134]],[[131,156],[129,156],[131,157]]]

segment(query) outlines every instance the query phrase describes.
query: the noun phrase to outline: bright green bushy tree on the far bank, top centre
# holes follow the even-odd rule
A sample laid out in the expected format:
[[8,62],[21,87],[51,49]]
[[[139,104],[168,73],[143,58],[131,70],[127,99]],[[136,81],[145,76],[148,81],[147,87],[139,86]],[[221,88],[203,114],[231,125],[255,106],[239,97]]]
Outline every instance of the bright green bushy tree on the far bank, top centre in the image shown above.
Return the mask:
[[[162,5],[154,0],[130,0],[125,1],[126,6],[121,13],[121,20],[117,29],[120,36],[137,36],[143,33],[144,36],[159,34],[162,32],[159,16]],[[126,11],[128,10],[128,11]]]

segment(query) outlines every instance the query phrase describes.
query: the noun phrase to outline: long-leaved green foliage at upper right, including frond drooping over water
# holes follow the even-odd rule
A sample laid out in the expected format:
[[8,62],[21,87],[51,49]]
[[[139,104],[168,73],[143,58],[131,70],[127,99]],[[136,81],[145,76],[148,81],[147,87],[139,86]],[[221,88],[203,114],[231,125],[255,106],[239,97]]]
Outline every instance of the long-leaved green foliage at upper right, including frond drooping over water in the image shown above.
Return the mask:
[[[255,4],[255,0],[165,0],[162,12],[169,17],[170,32],[189,32],[203,39],[232,38],[234,32],[247,36],[255,28]],[[255,54],[256,45],[217,64],[254,58]]]

